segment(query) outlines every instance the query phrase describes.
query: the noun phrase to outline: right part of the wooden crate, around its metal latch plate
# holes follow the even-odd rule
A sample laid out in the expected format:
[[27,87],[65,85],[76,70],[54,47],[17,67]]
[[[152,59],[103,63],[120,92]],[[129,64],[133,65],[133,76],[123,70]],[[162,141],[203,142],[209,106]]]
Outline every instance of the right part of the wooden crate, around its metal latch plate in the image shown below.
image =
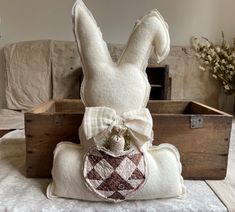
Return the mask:
[[[154,144],[171,143],[179,149],[184,178],[225,178],[232,116],[197,102],[153,101],[148,106]],[[193,115],[203,118],[202,128],[191,129]]]

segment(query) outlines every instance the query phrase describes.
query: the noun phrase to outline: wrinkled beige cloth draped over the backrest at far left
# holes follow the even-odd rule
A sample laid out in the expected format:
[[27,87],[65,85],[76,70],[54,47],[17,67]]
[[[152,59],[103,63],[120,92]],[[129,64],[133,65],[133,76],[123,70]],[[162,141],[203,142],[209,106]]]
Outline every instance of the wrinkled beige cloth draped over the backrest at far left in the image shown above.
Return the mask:
[[27,110],[52,98],[51,41],[27,41],[4,48],[6,101],[9,109]]

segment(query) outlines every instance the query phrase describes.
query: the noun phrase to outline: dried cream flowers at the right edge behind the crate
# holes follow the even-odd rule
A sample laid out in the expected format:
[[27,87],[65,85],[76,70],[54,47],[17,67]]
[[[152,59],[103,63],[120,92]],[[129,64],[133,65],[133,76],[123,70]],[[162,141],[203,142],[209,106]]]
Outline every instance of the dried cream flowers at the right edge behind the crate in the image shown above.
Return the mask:
[[207,38],[192,38],[192,46],[200,61],[199,68],[209,71],[218,80],[226,94],[235,93],[235,38],[229,46],[222,32],[221,45],[215,45]]

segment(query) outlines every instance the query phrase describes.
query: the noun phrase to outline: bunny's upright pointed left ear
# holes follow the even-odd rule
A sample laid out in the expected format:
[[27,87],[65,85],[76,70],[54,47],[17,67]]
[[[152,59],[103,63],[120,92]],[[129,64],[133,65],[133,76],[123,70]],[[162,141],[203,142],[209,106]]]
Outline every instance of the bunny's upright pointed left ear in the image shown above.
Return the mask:
[[74,35],[85,72],[96,71],[97,64],[112,62],[102,33],[82,0],[75,2],[72,16]]

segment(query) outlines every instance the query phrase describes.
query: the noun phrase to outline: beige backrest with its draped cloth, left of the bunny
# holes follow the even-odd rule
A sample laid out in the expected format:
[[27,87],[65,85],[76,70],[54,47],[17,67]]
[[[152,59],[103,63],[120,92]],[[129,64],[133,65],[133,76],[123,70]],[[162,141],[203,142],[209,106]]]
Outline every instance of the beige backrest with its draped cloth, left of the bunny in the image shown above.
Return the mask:
[[27,110],[49,99],[79,98],[81,65],[74,42],[19,42],[3,51],[8,109]]

